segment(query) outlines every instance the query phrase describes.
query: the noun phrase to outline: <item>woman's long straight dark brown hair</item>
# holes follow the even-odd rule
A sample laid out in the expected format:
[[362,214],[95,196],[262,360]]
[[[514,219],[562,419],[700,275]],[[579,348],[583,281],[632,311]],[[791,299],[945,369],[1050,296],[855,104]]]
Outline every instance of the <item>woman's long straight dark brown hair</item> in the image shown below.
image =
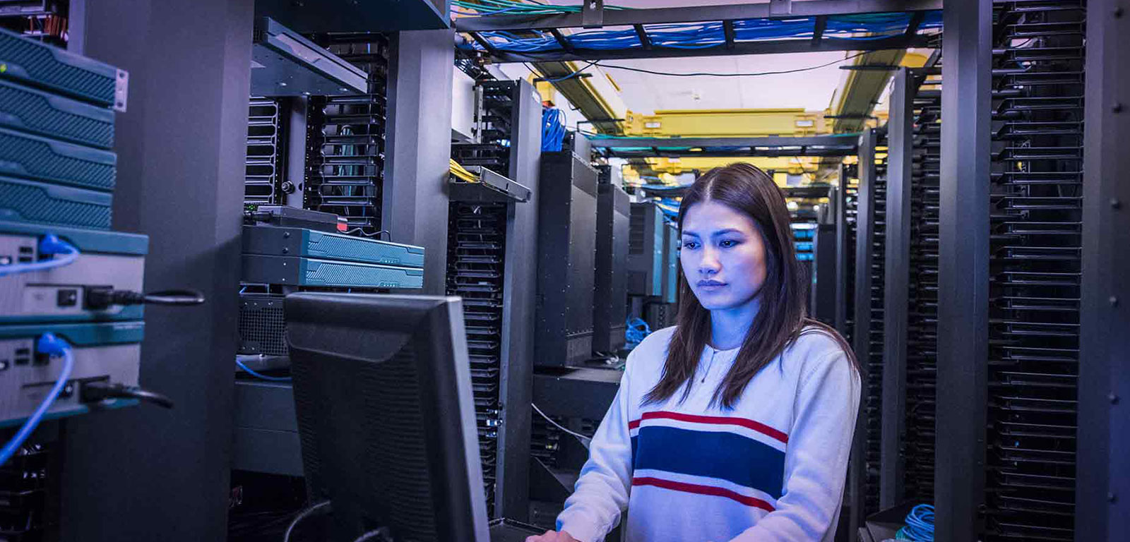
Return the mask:
[[[742,212],[757,225],[765,243],[765,282],[756,294],[760,301],[757,316],[746,333],[733,366],[714,391],[711,404],[732,409],[749,381],[773,362],[784,349],[803,334],[824,333],[834,339],[858,370],[855,356],[840,333],[808,317],[805,309],[808,273],[797,261],[792,245],[789,210],[784,194],[773,178],[748,164],[715,167],[698,177],[683,196],[679,206],[679,231],[687,210],[703,201],[724,203]],[[667,349],[663,374],[655,387],[644,396],[644,403],[670,399],[684,387],[683,399],[690,395],[695,370],[703,349],[711,338],[710,311],[698,303],[684,273],[679,273],[678,327]]]

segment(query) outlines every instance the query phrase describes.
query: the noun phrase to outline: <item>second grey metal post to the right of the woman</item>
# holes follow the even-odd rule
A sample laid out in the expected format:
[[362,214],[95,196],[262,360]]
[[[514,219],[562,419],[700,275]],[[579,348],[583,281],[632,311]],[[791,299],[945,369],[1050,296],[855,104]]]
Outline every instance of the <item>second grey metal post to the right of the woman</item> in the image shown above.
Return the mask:
[[906,329],[911,274],[911,163],[914,81],[906,68],[895,75],[887,121],[887,250],[884,276],[883,461],[879,506],[903,500],[903,437],[906,432]]

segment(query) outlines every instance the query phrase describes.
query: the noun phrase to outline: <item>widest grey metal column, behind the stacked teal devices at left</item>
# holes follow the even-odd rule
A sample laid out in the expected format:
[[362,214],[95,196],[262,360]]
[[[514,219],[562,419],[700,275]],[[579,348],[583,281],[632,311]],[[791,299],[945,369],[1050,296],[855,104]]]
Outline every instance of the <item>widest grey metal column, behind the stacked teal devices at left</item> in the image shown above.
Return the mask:
[[174,410],[66,421],[59,540],[224,540],[253,2],[76,5],[85,54],[130,72],[114,229],[149,235],[147,290],[207,303],[146,309],[140,382]]

